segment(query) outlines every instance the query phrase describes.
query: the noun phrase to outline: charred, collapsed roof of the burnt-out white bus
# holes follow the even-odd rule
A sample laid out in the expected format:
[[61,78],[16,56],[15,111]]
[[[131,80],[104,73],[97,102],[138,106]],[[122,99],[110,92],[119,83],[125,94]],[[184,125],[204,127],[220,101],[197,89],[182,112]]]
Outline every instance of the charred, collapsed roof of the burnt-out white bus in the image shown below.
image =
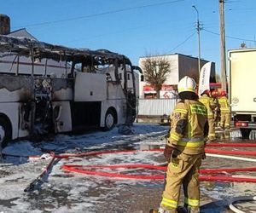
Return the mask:
[[[33,51],[32,51],[33,50]],[[1,54],[2,53],[2,54]],[[6,55],[23,55],[38,57],[39,59],[52,59],[56,61],[89,62],[93,65],[104,65],[109,60],[118,60],[119,64],[131,65],[131,60],[125,55],[113,53],[107,49],[74,49],[61,45],[39,42],[27,37],[9,37],[0,35],[0,57]]]

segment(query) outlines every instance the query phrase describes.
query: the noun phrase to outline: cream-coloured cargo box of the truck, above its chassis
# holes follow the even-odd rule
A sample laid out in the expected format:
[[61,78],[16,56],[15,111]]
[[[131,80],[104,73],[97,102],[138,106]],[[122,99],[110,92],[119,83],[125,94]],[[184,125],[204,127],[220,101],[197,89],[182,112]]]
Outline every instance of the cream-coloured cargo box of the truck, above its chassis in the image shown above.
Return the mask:
[[230,50],[231,112],[256,113],[256,49]]

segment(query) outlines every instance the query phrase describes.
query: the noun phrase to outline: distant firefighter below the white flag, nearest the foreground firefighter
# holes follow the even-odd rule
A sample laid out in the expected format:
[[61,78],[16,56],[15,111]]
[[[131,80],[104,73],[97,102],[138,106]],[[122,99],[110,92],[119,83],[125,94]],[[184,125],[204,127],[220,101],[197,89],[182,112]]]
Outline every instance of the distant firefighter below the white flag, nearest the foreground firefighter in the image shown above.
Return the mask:
[[199,101],[207,107],[207,118],[209,124],[208,141],[214,141],[216,139],[214,113],[212,111],[210,91],[208,89],[202,92]]

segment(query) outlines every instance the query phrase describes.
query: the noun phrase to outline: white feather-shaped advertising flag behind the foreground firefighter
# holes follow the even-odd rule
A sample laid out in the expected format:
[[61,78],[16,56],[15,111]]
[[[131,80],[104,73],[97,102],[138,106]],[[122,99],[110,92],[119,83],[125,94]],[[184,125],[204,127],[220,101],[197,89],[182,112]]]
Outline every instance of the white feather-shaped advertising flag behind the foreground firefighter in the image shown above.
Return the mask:
[[210,75],[211,75],[212,62],[207,62],[203,67],[201,67],[198,95],[201,96],[205,90],[210,89]]

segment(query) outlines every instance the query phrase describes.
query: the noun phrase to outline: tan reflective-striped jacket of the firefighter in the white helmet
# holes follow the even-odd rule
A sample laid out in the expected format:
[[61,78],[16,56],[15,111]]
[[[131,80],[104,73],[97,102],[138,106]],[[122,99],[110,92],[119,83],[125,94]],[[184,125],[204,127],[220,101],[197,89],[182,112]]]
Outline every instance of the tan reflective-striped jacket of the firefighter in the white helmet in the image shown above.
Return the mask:
[[200,102],[177,102],[171,116],[171,131],[166,145],[185,154],[204,153],[207,136],[207,108]]

